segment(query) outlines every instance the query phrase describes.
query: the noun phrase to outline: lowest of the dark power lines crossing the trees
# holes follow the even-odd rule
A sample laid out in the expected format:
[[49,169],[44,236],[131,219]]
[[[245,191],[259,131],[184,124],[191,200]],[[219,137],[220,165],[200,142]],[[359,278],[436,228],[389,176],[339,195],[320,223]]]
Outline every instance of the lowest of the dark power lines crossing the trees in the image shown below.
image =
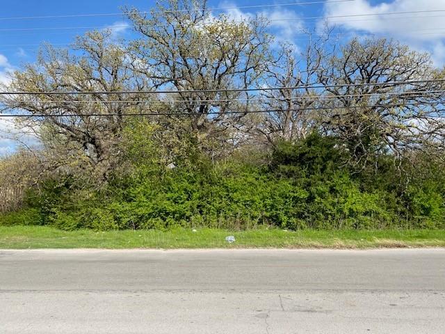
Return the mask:
[[[309,107],[304,108],[305,111],[326,111],[326,110],[339,110],[339,109],[363,109],[363,108],[400,108],[403,106],[423,106],[424,103],[410,103],[410,104],[376,104],[373,106],[326,106],[326,107]],[[224,113],[220,113],[219,111],[209,111],[208,113],[196,113],[196,112],[181,112],[181,113],[69,113],[69,114],[0,114],[1,117],[5,118],[24,118],[24,117],[35,117],[35,118],[55,118],[55,117],[102,117],[102,116],[119,116],[119,117],[127,117],[127,116],[187,116],[187,115],[195,115],[195,116],[211,116],[211,115],[230,115],[230,114],[249,114],[249,113],[285,113],[285,112],[294,112],[301,111],[300,109],[261,109],[261,110],[247,110],[247,111],[225,111]]]

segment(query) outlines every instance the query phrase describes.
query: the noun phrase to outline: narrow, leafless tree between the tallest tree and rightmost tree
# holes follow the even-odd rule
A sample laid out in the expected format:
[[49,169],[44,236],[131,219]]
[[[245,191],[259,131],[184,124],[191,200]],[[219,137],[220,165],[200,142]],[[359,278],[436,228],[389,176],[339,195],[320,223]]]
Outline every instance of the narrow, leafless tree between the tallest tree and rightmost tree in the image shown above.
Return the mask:
[[316,127],[312,109],[319,104],[320,92],[309,86],[316,81],[328,40],[326,36],[316,38],[301,52],[293,45],[282,45],[277,60],[268,64],[266,86],[280,89],[261,94],[262,107],[270,112],[257,131],[269,143],[300,140]]

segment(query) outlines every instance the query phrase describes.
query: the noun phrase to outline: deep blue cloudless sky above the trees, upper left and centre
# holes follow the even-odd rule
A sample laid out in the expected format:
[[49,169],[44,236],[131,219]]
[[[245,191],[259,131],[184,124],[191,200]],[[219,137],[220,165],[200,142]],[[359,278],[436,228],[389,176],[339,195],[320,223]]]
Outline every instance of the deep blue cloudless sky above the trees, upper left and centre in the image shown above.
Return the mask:
[[[283,0],[282,0],[283,1]],[[314,0],[301,0],[309,2]],[[154,1],[147,0],[20,0],[2,1],[0,17],[26,17],[39,15],[71,15],[87,13],[118,13],[121,6],[135,6],[141,10],[147,10],[154,6]],[[285,2],[298,2],[289,0]],[[209,6],[248,6],[252,4],[272,3],[270,1],[210,1]],[[254,13],[255,10],[249,10]],[[285,6],[268,10],[269,13],[280,12],[280,15],[289,16],[315,16],[323,15],[323,4],[306,6]],[[65,44],[72,42],[76,34],[82,33],[85,29],[73,30],[49,30],[49,31],[1,31],[1,29],[30,29],[30,28],[57,28],[68,26],[112,26],[121,24],[122,17],[72,17],[58,19],[0,19],[0,54],[8,58],[11,65],[20,65],[26,61],[32,61],[37,47],[35,44],[41,42],[51,42],[54,44]],[[282,22],[289,29],[298,22]],[[309,22],[312,26],[313,22]],[[17,45],[17,46],[16,46]]]

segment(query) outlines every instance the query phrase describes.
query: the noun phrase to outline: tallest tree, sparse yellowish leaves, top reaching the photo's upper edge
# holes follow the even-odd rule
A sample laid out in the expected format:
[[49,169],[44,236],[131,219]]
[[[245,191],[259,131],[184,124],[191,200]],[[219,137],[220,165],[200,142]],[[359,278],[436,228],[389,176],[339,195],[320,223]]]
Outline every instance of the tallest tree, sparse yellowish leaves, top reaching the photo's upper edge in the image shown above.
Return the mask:
[[205,0],[168,0],[149,16],[126,13],[141,35],[132,43],[135,71],[154,88],[177,92],[174,109],[198,141],[225,132],[234,118],[228,111],[249,109],[250,94],[237,89],[250,88],[270,60],[265,19],[214,17]]

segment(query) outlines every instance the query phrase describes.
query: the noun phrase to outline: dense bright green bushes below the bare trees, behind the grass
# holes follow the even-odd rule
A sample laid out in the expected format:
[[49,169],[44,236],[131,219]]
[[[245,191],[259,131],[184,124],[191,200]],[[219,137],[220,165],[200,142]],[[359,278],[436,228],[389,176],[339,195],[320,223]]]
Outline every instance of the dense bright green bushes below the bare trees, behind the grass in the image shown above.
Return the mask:
[[70,178],[45,180],[29,193],[26,208],[3,216],[2,223],[67,230],[445,227],[443,177],[432,173],[407,186],[390,157],[382,157],[376,170],[355,173],[344,166],[347,151],[334,138],[312,134],[295,145],[280,143],[264,166],[233,160],[212,165],[193,151],[193,164],[178,155],[172,169],[156,159],[161,153],[151,140],[138,136],[136,145],[147,145],[128,150],[133,168],[117,170],[104,188],[79,187]]

